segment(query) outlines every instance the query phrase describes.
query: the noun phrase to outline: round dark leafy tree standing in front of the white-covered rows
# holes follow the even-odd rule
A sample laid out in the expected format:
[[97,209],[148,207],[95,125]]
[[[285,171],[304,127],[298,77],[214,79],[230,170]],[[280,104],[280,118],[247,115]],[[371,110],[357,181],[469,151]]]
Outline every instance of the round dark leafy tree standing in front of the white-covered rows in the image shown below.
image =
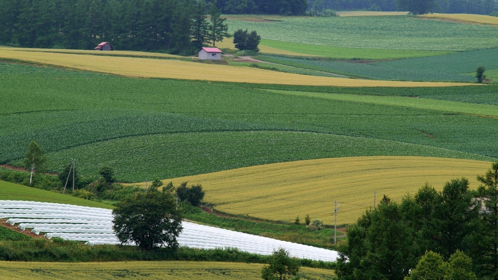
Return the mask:
[[151,189],[127,198],[116,205],[113,216],[113,229],[123,244],[133,242],[143,249],[178,247],[182,217],[169,193]]

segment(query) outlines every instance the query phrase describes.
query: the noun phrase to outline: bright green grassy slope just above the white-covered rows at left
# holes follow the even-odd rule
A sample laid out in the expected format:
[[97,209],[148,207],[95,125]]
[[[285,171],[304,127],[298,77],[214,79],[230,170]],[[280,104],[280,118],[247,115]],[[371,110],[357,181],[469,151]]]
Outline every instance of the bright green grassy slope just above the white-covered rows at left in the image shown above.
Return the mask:
[[25,200],[25,201],[73,204],[73,205],[99,207],[106,209],[113,208],[113,206],[111,205],[90,201],[82,198],[77,198],[66,194],[35,189],[1,180],[0,180],[0,198],[2,200]]

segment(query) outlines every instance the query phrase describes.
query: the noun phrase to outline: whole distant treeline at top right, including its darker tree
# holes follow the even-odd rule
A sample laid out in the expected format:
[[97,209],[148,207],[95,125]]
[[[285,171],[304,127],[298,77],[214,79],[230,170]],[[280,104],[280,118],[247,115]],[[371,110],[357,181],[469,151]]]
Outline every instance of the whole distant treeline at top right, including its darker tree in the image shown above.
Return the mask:
[[309,0],[308,10],[377,10],[490,14],[498,11],[496,0]]

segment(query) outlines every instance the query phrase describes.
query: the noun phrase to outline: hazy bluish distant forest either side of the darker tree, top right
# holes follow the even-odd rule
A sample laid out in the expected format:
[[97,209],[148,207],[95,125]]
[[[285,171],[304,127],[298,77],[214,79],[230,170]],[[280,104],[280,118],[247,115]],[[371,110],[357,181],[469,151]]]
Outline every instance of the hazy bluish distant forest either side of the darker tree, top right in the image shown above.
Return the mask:
[[[420,1],[424,2],[424,1]],[[497,0],[436,0],[434,12],[490,14],[498,10]],[[308,8],[333,10],[398,10],[396,0],[309,0]]]

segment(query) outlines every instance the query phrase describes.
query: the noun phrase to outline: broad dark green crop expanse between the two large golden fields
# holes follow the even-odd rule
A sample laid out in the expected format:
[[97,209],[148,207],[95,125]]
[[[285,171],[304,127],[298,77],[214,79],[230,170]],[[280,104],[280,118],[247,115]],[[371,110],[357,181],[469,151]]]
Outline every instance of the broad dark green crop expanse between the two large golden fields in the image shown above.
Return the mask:
[[47,153],[51,171],[60,172],[74,158],[83,175],[96,176],[100,166],[109,164],[124,182],[323,157],[498,157],[497,119],[461,114],[469,106],[481,110],[477,105],[452,104],[448,111],[449,106],[428,99],[409,98],[413,103],[406,107],[362,97],[420,95],[498,104],[494,86],[266,86],[360,95],[334,100],[268,92],[258,85],[130,79],[6,63],[0,67],[0,95],[6,101],[0,104],[1,163],[19,165],[30,140]]

